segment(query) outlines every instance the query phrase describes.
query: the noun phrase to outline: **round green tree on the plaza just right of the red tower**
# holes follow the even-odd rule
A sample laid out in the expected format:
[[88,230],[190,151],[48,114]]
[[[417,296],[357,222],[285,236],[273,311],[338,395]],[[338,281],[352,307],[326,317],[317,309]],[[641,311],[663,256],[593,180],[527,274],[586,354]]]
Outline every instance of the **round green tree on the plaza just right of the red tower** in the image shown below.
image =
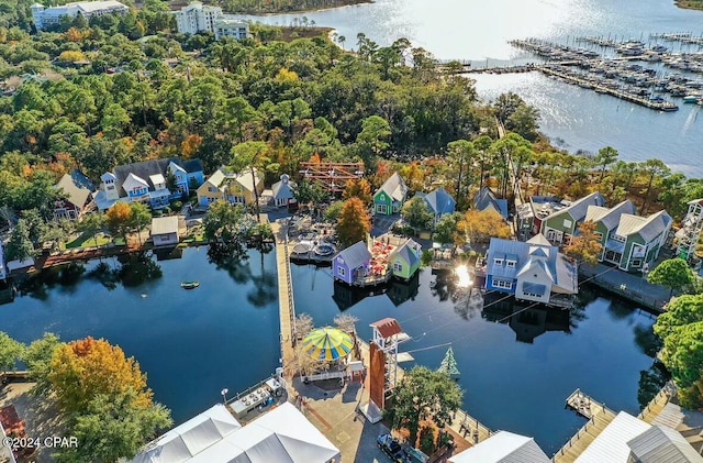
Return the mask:
[[408,429],[410,441],[415,442],[422,421],[450,422],[451,415],[461,406],[462,395],[446,373],[414,366],[393,390],[393,405],[387,410],[391,428]]

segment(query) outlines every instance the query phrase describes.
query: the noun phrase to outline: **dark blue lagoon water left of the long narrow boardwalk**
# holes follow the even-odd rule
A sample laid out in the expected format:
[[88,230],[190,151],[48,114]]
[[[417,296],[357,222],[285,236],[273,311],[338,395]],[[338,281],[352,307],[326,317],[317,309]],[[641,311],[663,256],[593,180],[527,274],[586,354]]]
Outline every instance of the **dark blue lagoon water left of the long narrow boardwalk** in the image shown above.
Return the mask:
[[[119,267],[115,260],[107,260]],[[155,399],[182,422],[272,374],[280,356],[276,255],[217,268],[207,247],[160,261],[160,278],[108,289],[88,276],[57,275],[0,306],[0,330],[29,343],[46,331],[63,341],[91,335],[119,344],[147,374]],[[180,283],[200,280],[185,290]]]

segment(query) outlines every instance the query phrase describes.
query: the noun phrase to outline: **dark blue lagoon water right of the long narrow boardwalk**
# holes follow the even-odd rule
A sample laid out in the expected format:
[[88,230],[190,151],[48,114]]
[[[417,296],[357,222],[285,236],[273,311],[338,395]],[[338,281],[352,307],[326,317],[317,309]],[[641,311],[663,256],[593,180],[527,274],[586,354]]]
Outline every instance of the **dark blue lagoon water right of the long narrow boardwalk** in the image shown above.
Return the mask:
[[577,387],[614,410],[639,411],[639,372],[652,364],[654,320],[629,306],[592,295],[570,319],[546,309],[510,317],[500,304],[481,310],[442,285],[431,289],[436,276],[428,269],[414,285],[393,283],[387,294],[368,296],[333,284],[330,268],[291,268],[295,310],[310,313],[315,326],[332,324],[344,311],[359,319],[357,330],[369,340],[369,323],[395,318],[412,338],[400,351],[431,368],[451,343],[467,411],[491,429],[535,437],[549,454],[584,423],[563,407]]

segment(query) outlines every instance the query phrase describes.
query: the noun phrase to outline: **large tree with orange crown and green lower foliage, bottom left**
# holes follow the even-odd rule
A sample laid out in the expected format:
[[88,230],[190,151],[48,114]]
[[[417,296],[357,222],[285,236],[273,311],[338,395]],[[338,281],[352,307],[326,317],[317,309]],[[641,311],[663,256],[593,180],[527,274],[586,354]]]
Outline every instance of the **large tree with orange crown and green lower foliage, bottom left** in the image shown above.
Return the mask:
[[58,461],[129,460],[172,423],[169,410],[154,403],[140,364],[104,339],[58,344],[47,376],[68,433],[78,439],[59,450]]

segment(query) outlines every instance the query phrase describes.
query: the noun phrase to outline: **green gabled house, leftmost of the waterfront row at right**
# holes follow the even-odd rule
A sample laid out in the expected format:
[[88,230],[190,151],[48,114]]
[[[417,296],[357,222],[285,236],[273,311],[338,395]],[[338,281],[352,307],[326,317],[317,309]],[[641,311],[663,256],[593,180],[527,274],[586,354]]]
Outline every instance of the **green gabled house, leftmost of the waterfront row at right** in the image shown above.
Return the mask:
[[554,201],[546,201],[535,210],[535,222],[539,222],[539,232],[557,245],[569,244],[578,224],[585,219],[588,207],[604,206],[605,198],[595,191],[577,201],[560,201],[559,205],[562,206],[557,207]]

